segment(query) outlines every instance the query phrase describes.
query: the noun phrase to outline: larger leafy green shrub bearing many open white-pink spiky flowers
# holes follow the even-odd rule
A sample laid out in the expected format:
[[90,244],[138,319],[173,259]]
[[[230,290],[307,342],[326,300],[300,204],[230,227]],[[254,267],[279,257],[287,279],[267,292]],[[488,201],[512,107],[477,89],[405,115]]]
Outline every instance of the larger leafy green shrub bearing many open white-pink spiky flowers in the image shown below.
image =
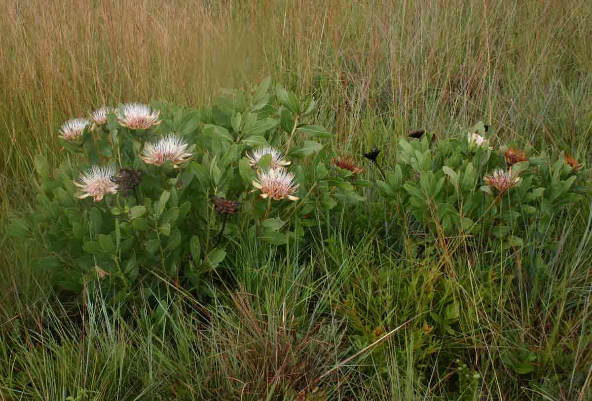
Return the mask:
[[355,165],[332,167],[322,143],[332,135],[310,123],[313,98],[270,84],[201,110],[120,104],[67,121],[60,142],[72,157],[53,173],[36,157],[36,207],[12,220],[11,235],[46,249],[38,268],[54,285],[115,303],[140,285],[157,298],[166,285],[207,295],[203,279],[237,235],[261,252],[304,241],[369,183]]

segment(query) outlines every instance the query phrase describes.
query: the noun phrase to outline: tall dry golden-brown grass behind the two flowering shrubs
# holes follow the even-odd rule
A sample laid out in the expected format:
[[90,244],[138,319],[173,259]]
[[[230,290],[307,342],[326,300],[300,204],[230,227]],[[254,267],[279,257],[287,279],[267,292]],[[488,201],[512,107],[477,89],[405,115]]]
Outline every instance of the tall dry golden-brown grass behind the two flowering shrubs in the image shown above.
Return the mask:
[[62,158],[60,124],[99,105],[199,106],[266,75],[316,91],[341,137],[374,130],[369,105],[401,129],[478,118],[565,145],[592,104],[591,15],[583,0],[5,0],[0,174]]

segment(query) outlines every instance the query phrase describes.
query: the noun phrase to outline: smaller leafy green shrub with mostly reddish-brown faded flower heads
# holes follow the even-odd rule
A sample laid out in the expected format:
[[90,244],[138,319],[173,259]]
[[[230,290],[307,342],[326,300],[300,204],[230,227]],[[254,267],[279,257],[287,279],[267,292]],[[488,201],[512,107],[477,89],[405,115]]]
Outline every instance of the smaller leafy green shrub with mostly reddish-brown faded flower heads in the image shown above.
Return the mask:
[[397,225],[413,220],[430,238],[472,235],[520,246],[590,192],[571,156],[494,149],[483,123],[437,142],[428,135],[402,138],[399,146],[397,162],[378,185]]

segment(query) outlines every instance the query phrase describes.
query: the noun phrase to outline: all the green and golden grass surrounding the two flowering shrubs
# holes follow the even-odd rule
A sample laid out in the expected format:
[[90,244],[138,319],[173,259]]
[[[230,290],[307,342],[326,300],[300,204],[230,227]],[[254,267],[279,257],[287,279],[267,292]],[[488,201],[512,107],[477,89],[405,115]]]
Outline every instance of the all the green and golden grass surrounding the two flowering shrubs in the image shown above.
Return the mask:
[[5,230],[32,210],[34,156],[65,160],[68,118],[199,108],[266,76],[314,95],[328,146],[378,146],[385,166],[410,131],[479,120],[493,143],[588,165],[590,27],[584,0],[0,2],[0,400],[592,400],[589,204],[489,264],[471,238],[451,259],[385,235],[367,188],[306,249],[253,258],[239,236],[213,295],[171,291],[157,319],[75,305]]

